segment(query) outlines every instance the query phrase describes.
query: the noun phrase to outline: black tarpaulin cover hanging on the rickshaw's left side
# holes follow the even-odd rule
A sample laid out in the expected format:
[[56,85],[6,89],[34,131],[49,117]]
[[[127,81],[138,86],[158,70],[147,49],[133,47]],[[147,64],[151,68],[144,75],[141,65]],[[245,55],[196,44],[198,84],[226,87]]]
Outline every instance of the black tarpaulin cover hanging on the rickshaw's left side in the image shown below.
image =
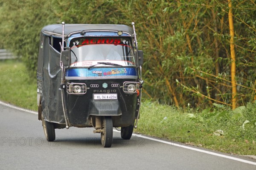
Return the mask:
[[49,45],[49,37],[44,35],[42,62],[42,110],[44,120],[64,124],[61,101],[60,52]]

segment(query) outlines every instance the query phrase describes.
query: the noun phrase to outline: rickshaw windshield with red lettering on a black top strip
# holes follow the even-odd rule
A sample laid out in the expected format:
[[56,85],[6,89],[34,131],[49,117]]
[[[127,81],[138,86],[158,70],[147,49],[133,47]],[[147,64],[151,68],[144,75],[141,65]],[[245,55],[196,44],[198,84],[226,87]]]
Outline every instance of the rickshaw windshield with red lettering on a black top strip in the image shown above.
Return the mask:
[[99,62],[135,65],[129,37],[78,37],[70,40],[70,48],[71,66],[92,66]]

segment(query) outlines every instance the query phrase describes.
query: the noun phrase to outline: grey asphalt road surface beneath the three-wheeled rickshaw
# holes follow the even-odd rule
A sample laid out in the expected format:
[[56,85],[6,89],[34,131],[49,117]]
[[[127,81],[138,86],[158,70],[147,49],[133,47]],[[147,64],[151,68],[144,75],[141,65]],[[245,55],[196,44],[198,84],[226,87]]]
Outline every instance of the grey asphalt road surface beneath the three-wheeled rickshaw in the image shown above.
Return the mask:
[[[139,170],[255,170],[256,160],[202,153],[153,141],[144,136],[122,140],[113,132],[111,148],[103,148],[93,128],[55,130],[57,141],[44,137],[37,115],[0,104],[0,170],[6,169],[139,169]],[[21,112],[22,111],[22,112]],[[159,140],[157,138],[154,138]],[[180,144],[182,146],[183,144]],[[184,144],[185,145],[185,144]],[[227,156],[227,158],[226,158]],[[238,158],[237,160],[230,159]],[[242,162],[241,159],[247,161]],[[240,161],[239,161],[240,160]]]

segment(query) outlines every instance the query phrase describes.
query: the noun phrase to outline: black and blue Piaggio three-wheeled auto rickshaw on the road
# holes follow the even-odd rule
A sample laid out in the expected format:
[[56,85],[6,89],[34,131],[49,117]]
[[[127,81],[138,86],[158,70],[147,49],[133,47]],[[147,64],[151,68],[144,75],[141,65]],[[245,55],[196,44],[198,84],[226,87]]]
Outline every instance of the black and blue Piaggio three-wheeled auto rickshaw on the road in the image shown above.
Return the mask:
[[94,127],[103,147],[111,147],[113,127],[131,138],[143,84],[143,51],[132,26],[62,22],[41,30],[38,119],[47,141],[65,127]]

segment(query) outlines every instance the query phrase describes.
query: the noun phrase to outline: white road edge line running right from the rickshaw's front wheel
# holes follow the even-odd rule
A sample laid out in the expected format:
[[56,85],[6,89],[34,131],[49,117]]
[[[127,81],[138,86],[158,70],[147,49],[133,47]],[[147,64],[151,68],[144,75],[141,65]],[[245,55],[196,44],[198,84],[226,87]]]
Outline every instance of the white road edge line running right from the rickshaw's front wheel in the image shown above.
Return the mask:
[[[120,131],[118,131],[118,130],[113,130],[113,131],[120,133]],[[223,158],[232,159],[232,160],[235,160],[235,161],[244,162],[244,163],[247,163],[247,164],[256,165],[256,162],[253,162],[253,161],[247,161],[247,160],[244,160],[244,159],[235,158],[235,157],[232,157],[232,156],[226,156],[226,155],[222,155],[222,154],[219,154],[219,153],[210,152],[210,151],[207,151],[207,150],[201,150],[201,149],[197,149],[197,148],[193,148],[193,147],[187,147],[187,146],[183,146],[183,145],[180,145],[180,144],[175,144],[174,142],[163,141],[163,140],[160,140],[160,139],[150,138],[150,137],[147,137],[147,136],[138,135],[138,134],[134,134],[134,133],[132,135],[140,137],[140,138],[149,139],[151,141],[157,141],[157,142],[161,142],[161,143],[164,143],[164,144],[170,144],[170,145],[176,146],[176,147],[182,147],[182,148],[189,149],[189,150],[195,150],[195,151],[198,151],[198,152],[201,152],[201,153],[207,153],[207,154],[214,155],[214,156],[219,156],[219,157],[223,157]]]

